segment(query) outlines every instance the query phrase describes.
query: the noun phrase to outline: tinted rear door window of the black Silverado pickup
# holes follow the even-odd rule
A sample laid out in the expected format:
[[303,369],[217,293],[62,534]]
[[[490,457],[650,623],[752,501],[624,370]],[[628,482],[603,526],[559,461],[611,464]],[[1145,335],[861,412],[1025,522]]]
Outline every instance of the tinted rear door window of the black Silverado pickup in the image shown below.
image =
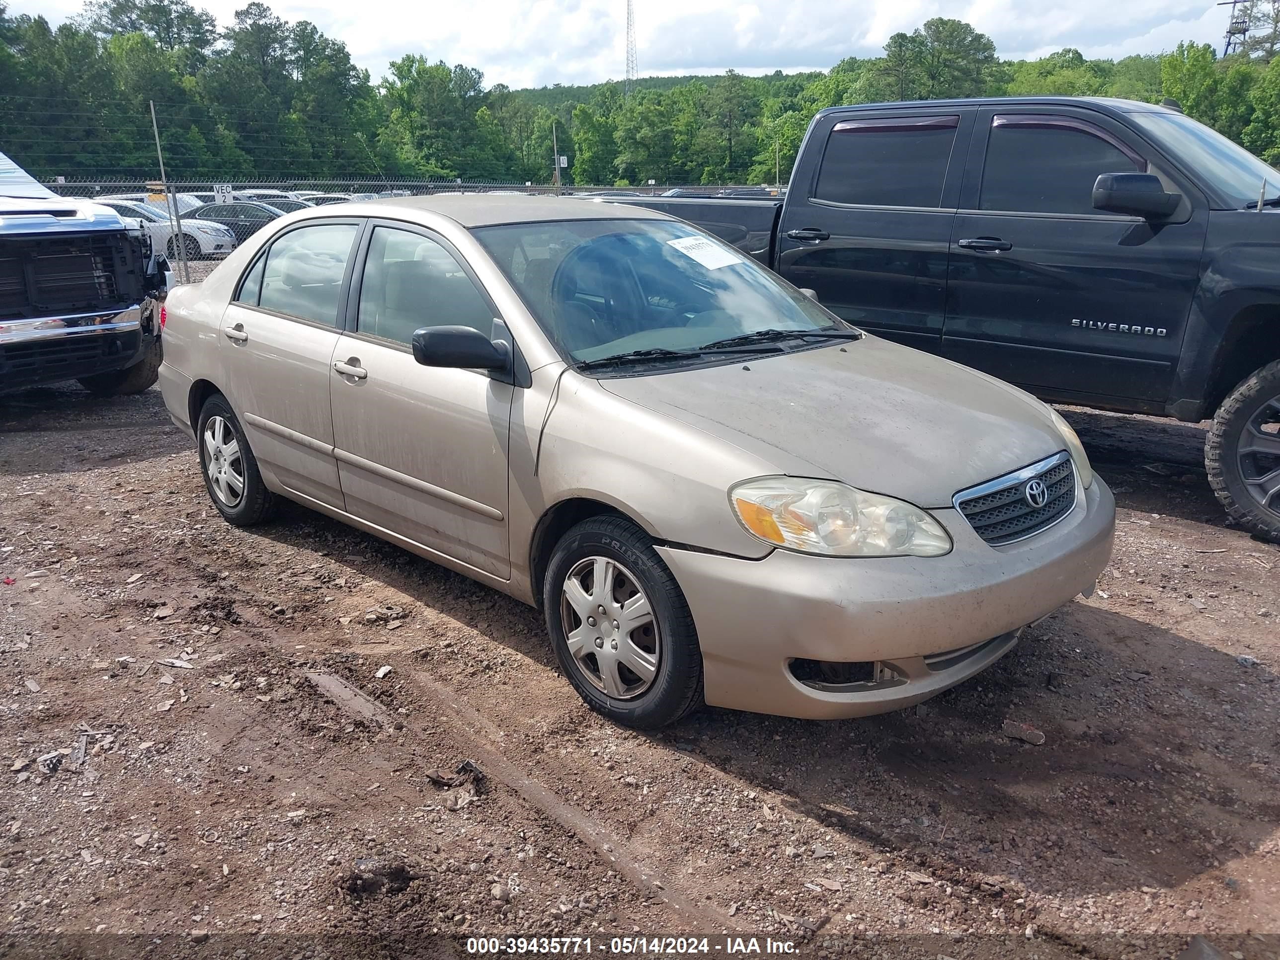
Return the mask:
[[827,137],[817,200],[937,207],[959,116],[842,120]]

